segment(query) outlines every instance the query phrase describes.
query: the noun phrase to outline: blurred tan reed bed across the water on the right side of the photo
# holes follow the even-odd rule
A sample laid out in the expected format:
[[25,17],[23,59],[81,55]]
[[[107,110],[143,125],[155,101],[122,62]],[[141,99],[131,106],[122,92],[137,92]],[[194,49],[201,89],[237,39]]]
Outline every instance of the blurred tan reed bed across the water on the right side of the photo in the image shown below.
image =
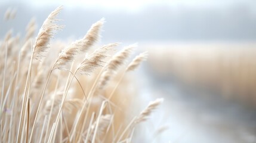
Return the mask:
[[255,105],[256,43],[174,43],[147,47],[151,55],[148,63],[159,76],[174,77],[170,80]]

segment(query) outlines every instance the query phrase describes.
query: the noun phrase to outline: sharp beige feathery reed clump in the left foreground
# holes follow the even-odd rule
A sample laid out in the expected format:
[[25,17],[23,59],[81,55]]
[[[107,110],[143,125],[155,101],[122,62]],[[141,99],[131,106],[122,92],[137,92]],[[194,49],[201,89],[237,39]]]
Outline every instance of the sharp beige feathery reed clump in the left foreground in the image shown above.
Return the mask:
[[[0,142],[131,142],[135,125],[162,102],[128,116],[135,93],[125,73],[137,69],[147,53],[127,64],[136,44],[119,52],[119,43],[95,48],[104,19],[82,39],[51,42],[64,28],[57,18],[61,10],[48,15],[35,39],[32,18],[24,39],[10,30],[1,41]],[[11,17],[8,10],[5,20]]]

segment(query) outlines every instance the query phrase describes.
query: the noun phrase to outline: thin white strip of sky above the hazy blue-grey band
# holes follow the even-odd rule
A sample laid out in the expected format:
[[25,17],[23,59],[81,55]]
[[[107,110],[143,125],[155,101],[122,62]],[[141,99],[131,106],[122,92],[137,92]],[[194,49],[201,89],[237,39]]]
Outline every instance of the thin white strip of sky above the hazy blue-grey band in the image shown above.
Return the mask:
[[230,4],[256,4],[254,0],[93,0],[93,1],[85,1],[85,0],[9,0],[9,1],[0,1],[1,3],[8,3],[8,2],[24,2],[30,5],[42,6],[51,5],[51,4],[61,4],[66,5],[67,7],[74,7],[74,6],[82,6],[82,7],[103,7],[103,8],[127,8],[127,9],[134,9],[134,8],[142,8],[145,5],[190,5],[190,6],[199,6],[203,7],[205,5],[230,5]]

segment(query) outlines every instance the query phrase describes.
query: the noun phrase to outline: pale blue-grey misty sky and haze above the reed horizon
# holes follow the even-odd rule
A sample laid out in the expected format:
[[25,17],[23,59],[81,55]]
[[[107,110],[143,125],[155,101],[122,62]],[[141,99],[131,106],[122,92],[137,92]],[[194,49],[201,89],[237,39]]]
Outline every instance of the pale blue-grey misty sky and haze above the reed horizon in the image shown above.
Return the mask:
[[8,29],[24,35],[32,17],[41,26],[59,5],[66,25],[57,38],[81,38],[91,24],[106,18],[106,41],[254,41],[256,1],[248,0],[94,0],[94,1],[0,1],[0,16],[8,7],[17,10],[16,19],[0,20],[0,36]]

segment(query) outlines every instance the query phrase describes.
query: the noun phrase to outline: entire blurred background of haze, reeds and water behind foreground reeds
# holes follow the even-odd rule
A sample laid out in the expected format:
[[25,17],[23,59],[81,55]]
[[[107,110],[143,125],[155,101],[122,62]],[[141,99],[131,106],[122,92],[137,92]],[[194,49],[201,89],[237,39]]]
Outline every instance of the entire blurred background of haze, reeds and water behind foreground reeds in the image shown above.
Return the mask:
[[[41,27],[59,5],[66,27],[55,39],[82,38],[104,17],[100,44],[138,42],[137,51],[149,51],[134,73],[138,108],[165,102],[136,142],[256,142],[256,1],[0,1],[0,38],[10,29],[24,35],[32,17]],[[16,18],[5,21],[7,10]]]

